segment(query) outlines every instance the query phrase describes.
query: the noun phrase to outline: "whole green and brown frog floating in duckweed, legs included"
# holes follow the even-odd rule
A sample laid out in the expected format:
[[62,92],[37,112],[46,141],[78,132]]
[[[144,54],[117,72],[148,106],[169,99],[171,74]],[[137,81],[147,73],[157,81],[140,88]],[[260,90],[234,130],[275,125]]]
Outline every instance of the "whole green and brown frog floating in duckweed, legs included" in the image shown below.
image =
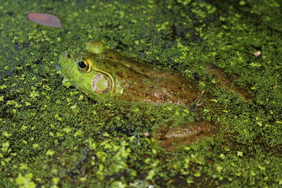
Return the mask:
[[[84,49],[65,52],[59,58],[62,75],[82,92],[95,99],[121,100],[138,104],[176,104],[200,106],[197,84],[182,73],[157,65],[136,61],[118,51],[107,48],[101,41],[92,40]],[[207,65],[207,72],[219,80],[219,86],[228,87],[231,80],[223,70]],[[250,98],[238,87],[229,87],[243,99]],[[192,108],[190,108],[192,111]],[[218,125],[203,120],[172,126],[171,120],[160,125],[154,138],[166,149],[173,145],[198,142],[210,137]]]

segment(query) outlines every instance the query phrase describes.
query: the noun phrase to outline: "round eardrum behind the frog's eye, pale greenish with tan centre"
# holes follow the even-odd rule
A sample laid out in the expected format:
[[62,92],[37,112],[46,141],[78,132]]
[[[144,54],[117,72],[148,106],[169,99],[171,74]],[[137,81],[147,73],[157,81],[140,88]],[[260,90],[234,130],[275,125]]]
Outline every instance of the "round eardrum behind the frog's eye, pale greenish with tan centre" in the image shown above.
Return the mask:
[[104,74],[104,73],[97,73],[92,78],[92,89],[94,92],[97,92],[98,94],[106,94],[111,92],[111,89],[113,87],[113,82],[111,81],[111,78]]

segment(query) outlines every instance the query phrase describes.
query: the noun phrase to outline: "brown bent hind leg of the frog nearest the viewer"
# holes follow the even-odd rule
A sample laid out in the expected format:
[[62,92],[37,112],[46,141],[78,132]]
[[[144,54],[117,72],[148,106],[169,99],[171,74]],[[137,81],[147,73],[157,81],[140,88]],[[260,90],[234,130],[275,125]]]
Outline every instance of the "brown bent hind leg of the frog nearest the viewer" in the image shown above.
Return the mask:
[[216,132],[216,126],[203,120],[183,123],[171,128],[171,122],[166,126],[160,126],[155,132],[155,139],[165,149],[173,149],[180,144],[198,142],[203,137],[210,137]]

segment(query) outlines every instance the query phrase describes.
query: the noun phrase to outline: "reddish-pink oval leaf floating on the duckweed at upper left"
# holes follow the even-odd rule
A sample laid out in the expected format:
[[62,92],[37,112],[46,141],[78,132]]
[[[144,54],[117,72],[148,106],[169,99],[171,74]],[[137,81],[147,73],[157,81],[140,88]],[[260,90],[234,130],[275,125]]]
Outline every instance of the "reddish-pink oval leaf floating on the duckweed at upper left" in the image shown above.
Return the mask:
[[34,23],[39,23],[40,25],[61,28],[61,21],[59,18],[49,13],[28,13],[26,17],[28,20]]

